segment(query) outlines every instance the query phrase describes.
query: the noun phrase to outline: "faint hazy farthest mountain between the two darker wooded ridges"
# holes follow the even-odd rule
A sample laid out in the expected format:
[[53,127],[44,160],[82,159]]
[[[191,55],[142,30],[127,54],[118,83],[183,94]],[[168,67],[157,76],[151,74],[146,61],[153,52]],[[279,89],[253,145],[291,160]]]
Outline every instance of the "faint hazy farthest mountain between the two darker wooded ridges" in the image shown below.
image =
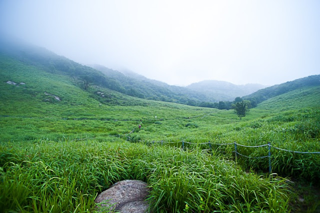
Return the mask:
[[236,85],[226,81],[220,80],[203,80],[197,83],[191,83],[186,86],[189,89],[202,92],[206,96],[216,100],[234,100],[235,97],[241,97],[251,94],[265,85],[248,83],[245,85]]

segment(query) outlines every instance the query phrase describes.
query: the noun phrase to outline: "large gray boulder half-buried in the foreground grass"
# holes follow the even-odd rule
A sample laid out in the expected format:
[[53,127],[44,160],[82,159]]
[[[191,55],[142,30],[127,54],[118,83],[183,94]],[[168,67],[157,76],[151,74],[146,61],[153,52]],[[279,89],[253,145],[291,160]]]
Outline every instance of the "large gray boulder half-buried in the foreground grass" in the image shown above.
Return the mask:
[[144,201],[149,194],[147,184],[141,180],[122,180],[102,191],[95,198],[100,211],[123,213],[146,212],[148,203]]

